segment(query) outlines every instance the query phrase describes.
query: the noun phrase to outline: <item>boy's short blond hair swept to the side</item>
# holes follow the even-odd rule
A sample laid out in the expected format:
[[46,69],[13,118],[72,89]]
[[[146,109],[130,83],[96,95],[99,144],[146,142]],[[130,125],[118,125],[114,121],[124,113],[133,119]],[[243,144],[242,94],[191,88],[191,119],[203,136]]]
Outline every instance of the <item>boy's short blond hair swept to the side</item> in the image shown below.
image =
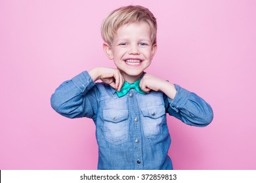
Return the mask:
[[137,6],[120,7],[113,10],[102,22],[101,36],[102,39],[112,45],[114,35],[121,25],[147,22],[150,26],[152,45],[156,44],[157,23],[154,14],[148,8]]

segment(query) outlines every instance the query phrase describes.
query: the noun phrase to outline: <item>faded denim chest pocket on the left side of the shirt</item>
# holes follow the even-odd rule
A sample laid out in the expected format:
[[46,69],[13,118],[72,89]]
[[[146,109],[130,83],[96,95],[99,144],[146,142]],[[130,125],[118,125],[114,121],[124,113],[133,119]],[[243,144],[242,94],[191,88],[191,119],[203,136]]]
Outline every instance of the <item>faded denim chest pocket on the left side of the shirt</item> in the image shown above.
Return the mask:
[[128,110],[103,110],[104,137],[112,144],[127,142],[129,138]]

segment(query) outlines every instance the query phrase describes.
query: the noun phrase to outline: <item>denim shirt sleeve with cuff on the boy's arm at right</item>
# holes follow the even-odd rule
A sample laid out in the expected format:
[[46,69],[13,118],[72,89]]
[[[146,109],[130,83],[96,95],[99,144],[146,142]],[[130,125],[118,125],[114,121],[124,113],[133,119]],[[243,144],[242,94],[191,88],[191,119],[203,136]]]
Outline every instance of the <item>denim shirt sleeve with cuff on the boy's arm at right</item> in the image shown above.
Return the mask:
[[188,125],[204,127],[213,120],[213,110],[196,93],[189,92],[175,84],[177,93],[174,99],[166,96],[165,108],[167,112]]

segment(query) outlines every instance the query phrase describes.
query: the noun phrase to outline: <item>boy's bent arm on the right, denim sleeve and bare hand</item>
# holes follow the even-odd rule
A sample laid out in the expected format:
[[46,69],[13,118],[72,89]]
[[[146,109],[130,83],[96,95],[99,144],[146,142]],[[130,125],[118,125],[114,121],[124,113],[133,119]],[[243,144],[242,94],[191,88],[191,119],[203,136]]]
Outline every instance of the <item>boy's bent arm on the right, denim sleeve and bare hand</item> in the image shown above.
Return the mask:
[[213,120],[211,106],[195,93],[178,85],[146,74],[140,81],[140,88],[144,92],[154,90],[165,93],[167,112],[185,124],[203,127]]

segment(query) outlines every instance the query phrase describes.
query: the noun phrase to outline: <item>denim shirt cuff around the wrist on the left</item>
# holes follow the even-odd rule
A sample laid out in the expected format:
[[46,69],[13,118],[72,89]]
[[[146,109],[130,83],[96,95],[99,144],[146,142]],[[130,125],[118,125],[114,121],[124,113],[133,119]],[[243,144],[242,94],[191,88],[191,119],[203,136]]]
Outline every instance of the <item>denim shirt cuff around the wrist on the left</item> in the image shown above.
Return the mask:
[[72,78],[75,86],[81,91],[81,93],[87,93],[93,86],[95,86],[95,82],[89,75],[87,71],[83,71],[83,73]]

